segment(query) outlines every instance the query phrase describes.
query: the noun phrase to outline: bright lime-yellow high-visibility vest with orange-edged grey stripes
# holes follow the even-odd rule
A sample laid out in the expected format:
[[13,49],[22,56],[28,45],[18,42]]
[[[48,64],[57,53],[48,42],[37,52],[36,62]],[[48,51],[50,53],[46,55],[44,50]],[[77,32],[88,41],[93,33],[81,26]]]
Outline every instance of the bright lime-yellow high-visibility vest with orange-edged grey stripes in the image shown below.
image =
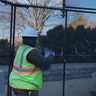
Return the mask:
[[42,88],[42,71],[39,67],[26,60],[31,50],[33,48],[27,45],[21,45],[17,50],[9,77],[11,87],[26,90],[39,90]]

